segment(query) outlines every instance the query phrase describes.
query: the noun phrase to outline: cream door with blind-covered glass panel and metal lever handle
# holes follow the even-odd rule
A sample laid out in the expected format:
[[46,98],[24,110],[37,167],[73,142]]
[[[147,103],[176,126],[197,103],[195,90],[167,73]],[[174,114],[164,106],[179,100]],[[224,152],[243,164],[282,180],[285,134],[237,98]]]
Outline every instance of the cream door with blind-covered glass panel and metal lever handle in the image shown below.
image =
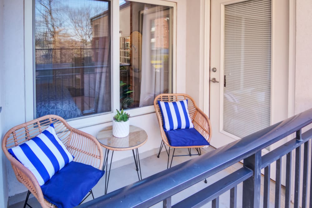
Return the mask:
[[221,147],[271,124],[271,0],[211,0],[210,119]]

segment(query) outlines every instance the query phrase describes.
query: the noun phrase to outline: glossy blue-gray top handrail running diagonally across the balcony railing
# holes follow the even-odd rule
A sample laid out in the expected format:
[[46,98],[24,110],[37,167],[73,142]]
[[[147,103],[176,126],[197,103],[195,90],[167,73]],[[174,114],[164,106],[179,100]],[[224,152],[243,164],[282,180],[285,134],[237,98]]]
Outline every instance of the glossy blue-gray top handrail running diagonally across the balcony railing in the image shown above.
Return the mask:
[[[301,133],[301,129],[310,123],[312,123],[312,109],[221,148],[207,152],[201,157],[183,162],[141,181],[88,201],[81,204],[80,207],[152,206],[236,162],[256,154],[292,133],[299,130]],[[305,138],[311,138],[312,131],[309,130],[304,136]]]

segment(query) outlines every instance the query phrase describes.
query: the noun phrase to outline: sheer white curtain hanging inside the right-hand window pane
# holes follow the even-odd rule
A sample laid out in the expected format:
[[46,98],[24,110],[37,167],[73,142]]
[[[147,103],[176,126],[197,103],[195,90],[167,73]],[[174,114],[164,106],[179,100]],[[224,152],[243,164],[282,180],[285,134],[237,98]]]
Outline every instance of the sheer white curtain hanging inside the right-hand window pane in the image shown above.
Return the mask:
[[[142,28],[142,72],[139,107],[152,105],[155,96],[164,92],[163,7],[144,9]],[[154,36],[152,36],[154,34]],[[162,34],[162,35],[161,35]],[[166,49],[168,51],[168,49]],[[167,87],[167,86],[166,86]]]

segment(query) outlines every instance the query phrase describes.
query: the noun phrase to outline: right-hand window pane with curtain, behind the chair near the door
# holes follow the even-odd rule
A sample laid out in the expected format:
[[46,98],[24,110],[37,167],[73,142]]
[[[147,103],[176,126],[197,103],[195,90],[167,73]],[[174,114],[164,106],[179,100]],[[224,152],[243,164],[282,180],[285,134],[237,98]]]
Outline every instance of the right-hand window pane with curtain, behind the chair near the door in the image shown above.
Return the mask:
[[119,1],[120,109],[172,92],[172,7]]

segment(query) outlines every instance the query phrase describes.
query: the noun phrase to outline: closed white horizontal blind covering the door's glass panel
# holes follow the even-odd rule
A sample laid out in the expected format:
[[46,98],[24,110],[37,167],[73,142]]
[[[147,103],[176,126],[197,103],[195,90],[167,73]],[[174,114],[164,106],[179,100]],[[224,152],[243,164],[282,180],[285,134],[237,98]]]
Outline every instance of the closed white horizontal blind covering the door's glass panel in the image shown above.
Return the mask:
[[270,125],[271,0],[225,6],[223,129],[243,137]]

